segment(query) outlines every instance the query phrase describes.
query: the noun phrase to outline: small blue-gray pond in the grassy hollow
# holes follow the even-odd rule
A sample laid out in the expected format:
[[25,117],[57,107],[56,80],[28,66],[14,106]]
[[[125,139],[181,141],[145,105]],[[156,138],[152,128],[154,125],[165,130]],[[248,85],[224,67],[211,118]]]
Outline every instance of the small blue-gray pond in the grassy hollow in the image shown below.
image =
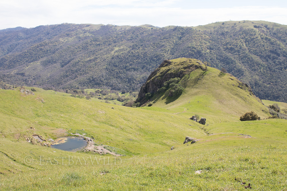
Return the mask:
[[76,152],[83,149],[87,145],[87,142],[82,137],[62,137],[56,139],[51,147],[64,151]]

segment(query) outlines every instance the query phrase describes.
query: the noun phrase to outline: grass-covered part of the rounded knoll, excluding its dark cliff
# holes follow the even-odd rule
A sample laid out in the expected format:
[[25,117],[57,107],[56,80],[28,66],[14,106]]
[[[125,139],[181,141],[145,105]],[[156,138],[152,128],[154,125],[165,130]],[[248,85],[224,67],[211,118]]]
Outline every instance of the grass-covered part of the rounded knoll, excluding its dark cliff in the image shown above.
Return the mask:
[[[166,70],[176,73],[189,65],[203,65],[201,61],[190,58],[178,58],[170,62],[169,66],[160,68],[150,81],[157,79]],[[195,69],[181,78],[179,84],[185,89],[180,97],[169,97],[170,89],[163,93],[156,92],[150,98],[152,107],[145,109],[152,111],[154,107],[165,108],[187,118],[197,114],[207,118],[207,124],[238,121],[238,116],[248,111],[255,111],[261,119],[270,116],[267,107],[245,84],[242,85],[242,82],[230,74],[219,74],[220,70],[212,67],[208,67],[208,71]]]

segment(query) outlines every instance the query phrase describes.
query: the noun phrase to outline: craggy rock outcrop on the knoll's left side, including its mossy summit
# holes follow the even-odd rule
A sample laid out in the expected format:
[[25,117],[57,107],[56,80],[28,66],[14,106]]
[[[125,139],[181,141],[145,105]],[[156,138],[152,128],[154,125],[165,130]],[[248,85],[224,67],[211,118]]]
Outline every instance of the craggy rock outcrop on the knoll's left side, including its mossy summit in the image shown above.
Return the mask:
[[170,80],[171,78],[182,78],[186,73],[185,69],[191,69],[191,71],[201,68],[205,70],[203,66],[196,63],[195,59],[185,58],[181,64],[181,67],[168,67],[174,62],[170,60],[164,60],[160,66],[154,72],[150,74],[146,83],[141,86],[139,91],[139,95],[137,97],[136,103],[143,103],[147,102],[146,94],[151,93],[154,94],[158,91],[158,89],[162,88],[164,82]]

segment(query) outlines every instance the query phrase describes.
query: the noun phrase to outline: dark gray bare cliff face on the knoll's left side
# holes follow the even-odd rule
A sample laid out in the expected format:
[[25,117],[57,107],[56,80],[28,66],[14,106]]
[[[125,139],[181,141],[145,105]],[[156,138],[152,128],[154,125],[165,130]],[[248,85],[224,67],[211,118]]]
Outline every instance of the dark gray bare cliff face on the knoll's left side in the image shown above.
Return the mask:
[[[158,72],[160,71],[161,68],[167,67],[170,64],[172,64],[172,62],[170,60],[164,60],[160,64],[160,66],[156,70],[154,70],[154,72],[152,72],[150,74],[146,83],[144,83],[141,86],[141,89],[139,91],[139,95],[138,95],[137,100],[136,100],[137,103],[138,102],[140,104],[145,103],[147,101],[145,98],[146,93],[151,93],[151,94],[155,93],[159,88],[163,87],[164,82],[168,81],[170,78],[182,78],[185,75],[184,70],[180,70],[179,72],[174,73],[174,72],[170,72],[171,69],[167,69],[159,77],[154,78],[154,76],[156,76],[158,74]],[[198,69],[198,68],[203,69],[203,66],[198,66],[196,64],[191,64],[190,66],[184,66],[182,69],[187,69],[190,67],[193,67],[194,69]]]

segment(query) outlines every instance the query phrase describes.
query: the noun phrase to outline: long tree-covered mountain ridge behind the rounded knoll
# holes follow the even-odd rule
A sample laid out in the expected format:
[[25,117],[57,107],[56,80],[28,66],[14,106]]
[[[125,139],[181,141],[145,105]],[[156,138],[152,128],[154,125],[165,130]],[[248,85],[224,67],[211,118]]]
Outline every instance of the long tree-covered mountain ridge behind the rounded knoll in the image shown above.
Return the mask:
[[260,99],[287,101],[287,26],[225,21],[197,27],[60,24],[0,30],[0,80],[40,87],[139,90],[164,59],[224,67]]

